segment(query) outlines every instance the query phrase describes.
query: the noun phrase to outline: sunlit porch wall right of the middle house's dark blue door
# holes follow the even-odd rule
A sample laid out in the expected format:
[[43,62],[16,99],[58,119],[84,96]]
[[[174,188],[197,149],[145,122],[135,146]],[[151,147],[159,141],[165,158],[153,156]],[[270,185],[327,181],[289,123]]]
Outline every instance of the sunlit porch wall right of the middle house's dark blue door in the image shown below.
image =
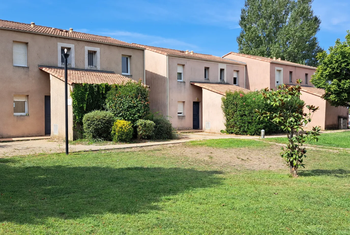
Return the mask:
[[[225,130],[225,117],[221,109],[223,95],[203,88],[203,130],[206,132],[220,132]],[[205,122],[210,122],[210,129],[205,129]]]

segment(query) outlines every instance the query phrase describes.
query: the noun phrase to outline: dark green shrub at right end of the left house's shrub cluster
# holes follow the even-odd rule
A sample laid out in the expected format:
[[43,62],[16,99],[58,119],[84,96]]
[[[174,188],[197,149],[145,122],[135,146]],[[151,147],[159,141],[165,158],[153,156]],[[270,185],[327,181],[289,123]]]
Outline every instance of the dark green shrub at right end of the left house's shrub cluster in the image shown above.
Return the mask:
[[175,131],[172,123],[166,119],[163,115],[156,115],[153,117],[153,122],[155,124],[152,139],[174,139]]

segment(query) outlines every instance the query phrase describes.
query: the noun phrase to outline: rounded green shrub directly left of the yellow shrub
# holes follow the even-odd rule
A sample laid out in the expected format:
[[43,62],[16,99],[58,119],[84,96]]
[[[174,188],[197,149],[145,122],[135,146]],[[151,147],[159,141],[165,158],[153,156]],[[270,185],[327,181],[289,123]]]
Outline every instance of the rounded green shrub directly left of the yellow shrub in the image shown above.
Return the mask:
[[83,117],[83,129],[88,139],[111,139],[111,130],[114,122],[113,114],[107,111],[95,110],[86,113]]

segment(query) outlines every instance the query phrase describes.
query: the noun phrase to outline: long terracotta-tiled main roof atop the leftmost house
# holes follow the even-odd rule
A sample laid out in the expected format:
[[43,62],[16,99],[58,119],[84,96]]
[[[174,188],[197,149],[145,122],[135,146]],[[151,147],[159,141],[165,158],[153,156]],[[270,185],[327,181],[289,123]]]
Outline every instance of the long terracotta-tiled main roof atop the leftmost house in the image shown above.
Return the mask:
[[74,38],[74,39],[85,40],[85,41],[95,41],[95,42],[101,42],[101,43],[107,43],[107,44],[116,44],[118,46],[136,47],[136,48],[142,49],[142,47],[138,45],[131,44],[128,42],[123,42],[123,41],[114,39],[112,37],[80,33],[75,31],[69,32],[69,30],[65,30],[65,29],[57,29],[57,28],[51,28],[46,26],[40,26],[40,25],[34,25],[34,27],[31,27],[30,24],[14,22],[14,21],[0,20],[0,29],[1,28],[10,29],[10,30],[20,30],[28,33],[48,34],[48,35],[58,36],[58,37],[68,37],[68,38]]

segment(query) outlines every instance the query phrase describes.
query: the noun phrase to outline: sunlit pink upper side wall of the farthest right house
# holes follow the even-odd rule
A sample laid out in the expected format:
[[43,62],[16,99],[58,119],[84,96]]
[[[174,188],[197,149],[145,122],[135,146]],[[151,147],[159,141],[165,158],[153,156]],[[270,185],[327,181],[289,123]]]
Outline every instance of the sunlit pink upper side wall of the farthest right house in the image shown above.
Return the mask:
[[[269,62],[255,60],[244,56],[228,54],[224,58],[245,62],[246,65],[246,89],[261,90],[269,87],[270,66]],[[244,88],[243,85],[239,85]]]

